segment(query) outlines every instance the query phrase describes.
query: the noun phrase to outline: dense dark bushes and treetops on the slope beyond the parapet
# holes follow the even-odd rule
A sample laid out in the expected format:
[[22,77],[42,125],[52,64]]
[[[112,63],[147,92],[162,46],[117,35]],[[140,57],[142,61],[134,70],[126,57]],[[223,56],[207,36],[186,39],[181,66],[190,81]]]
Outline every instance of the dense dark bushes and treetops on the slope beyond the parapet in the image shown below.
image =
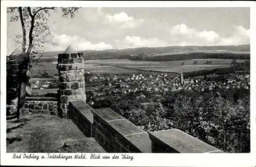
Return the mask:
[[237,94],[235,101],[217,91],[167,92],[164,100],[147,102],[146,108],[142,100],[108,96],[93,107],[110,107],[145,131],[177,128],[225,152],[250,152],[249,92],[230,91]]

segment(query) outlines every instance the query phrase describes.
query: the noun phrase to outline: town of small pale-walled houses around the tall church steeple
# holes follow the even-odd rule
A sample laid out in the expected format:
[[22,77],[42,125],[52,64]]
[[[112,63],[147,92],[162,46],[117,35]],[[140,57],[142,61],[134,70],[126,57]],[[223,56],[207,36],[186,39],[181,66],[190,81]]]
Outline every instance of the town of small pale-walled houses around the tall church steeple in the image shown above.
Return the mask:
[[[104,77],[92,74],[89,81],[97,83],[98,89],[93,91],[94,97],[105,97],[110,94],[138,94],[137,98],[144,98],[145,93],[164,93],[177,90],[205,91],[214,88],[221,89],[249,89],[250,76],[237,75],[223,82],[205,81],[204,79],[184,79],[180,77],[168,77],[167,74],[132,74],[127,78],[122,76]],[[90,84],[90,83],[89,83]]]

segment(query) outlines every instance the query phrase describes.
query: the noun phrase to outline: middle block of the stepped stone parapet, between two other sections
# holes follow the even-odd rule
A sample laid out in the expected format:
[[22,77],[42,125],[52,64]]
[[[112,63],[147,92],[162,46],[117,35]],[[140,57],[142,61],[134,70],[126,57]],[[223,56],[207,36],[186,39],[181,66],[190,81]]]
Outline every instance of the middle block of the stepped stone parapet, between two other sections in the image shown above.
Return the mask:
[[151,153],[148,133],[110,108],[92,110],[93,137],[110,153]]

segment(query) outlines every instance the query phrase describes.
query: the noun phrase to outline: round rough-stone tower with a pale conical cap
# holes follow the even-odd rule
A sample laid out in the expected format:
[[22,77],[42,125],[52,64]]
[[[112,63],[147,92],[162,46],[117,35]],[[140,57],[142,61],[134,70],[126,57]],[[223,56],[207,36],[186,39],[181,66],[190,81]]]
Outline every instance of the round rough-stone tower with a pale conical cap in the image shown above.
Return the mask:
[[58,114],[69,116],[69,102],[86,101],[83,54],[77,53],[69,45],[66,51],[58,54],[57,69],[59,71]]

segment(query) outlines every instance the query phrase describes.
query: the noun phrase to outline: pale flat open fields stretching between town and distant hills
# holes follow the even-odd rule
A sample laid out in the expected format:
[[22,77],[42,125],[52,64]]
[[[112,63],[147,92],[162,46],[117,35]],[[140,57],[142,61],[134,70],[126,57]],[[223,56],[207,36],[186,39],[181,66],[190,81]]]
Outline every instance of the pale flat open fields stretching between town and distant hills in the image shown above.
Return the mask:
[[[198,61],[197,65],[194,64],[195,60]],[[212,63],[205,64],[207,60],[212,61]],[[188,72],[201,69],[229,67],[231,61],[231,59],[189,59],[180,61],[132,61],[127,59],[86,60],[84,61],[84,69],[98,74],[131,74],[136,73],[138,70],[180,73],[181,69],[184,72]],[[246,60],[237,60],[237,62],[244,61]],[[184,65],[181,65],[183,62]],[[58,70],[56,68],[56,62],[40,62],[33,64],[31,75],[33,77],[38,74],[43,74],[45,71],[46,73],[57,75]]]

